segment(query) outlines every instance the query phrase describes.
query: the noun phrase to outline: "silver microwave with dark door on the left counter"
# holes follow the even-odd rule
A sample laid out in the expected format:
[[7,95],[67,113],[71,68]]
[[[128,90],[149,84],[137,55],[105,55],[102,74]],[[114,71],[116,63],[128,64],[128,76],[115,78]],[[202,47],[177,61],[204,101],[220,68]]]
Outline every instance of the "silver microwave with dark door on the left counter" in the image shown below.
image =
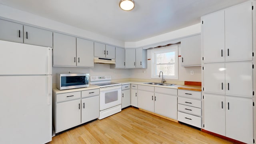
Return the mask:
[[56,79],[59,90],[85,88],[89,86],[89,74],[57,74]]

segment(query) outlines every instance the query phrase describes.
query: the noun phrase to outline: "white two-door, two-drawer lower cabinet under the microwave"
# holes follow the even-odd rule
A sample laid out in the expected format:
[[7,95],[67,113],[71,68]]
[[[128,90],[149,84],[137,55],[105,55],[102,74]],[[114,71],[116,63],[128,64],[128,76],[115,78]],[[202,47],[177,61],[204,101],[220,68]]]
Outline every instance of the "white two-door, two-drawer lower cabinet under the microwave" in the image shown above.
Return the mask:
[[99,89],[59,94],[53,90],[52,113],[55,133],[98,118],[99,94]]

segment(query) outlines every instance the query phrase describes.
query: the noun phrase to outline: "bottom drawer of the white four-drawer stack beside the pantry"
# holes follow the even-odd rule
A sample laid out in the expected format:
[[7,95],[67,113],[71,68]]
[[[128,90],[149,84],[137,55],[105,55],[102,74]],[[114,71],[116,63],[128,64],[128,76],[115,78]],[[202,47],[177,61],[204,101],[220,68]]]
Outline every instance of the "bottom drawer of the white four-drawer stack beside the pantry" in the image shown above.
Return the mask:
[[201,128],[201,117],[178,112],[178,121]]

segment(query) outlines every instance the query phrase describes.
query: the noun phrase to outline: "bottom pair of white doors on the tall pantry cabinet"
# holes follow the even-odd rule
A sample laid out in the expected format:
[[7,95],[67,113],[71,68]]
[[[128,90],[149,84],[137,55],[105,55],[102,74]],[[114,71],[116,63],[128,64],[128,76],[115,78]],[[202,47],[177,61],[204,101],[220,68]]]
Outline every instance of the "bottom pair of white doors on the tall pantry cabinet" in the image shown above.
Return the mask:
[[252,110],[252,99],[204,94],[204,128],[252,144]]

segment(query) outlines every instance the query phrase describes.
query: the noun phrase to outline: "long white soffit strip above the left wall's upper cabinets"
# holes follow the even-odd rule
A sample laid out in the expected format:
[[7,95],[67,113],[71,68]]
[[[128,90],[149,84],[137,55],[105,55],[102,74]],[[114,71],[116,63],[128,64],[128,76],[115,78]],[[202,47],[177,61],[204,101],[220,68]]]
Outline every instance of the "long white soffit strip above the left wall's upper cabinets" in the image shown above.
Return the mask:
[[8,18],[11,20],[16,20],[19,22],[36,25],[43,28],[56,30],[59,32],[64,32],[64,33],[79,36],[82,38],[87,38],[90,40],[104,42],[106,44],[111,44],[114,46],[124,47],[124,41],[109,38],[107,36],[102,36],[94,32],[76,28],[74,26],[63,24],[54,20],[50,20],[48,18],[44,18],[42,16],[37,16],[28,12],[24,12],[21,10],[17,10],[15,8],[11,8],[2,4],[0,4],[0,16],[3,18]]

